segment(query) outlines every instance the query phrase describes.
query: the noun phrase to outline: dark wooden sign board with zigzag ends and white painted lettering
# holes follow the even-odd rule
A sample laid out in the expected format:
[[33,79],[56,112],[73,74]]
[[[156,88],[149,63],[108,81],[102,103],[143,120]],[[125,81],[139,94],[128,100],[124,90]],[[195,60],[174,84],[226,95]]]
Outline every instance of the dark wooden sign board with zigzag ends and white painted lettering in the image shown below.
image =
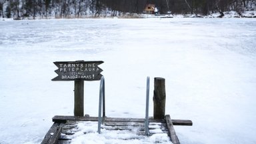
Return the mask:
[[53,62],[58,69],[57,77],[52,81],[98,81],[101,79],[101,68],[98,67],[103,61],[56,61]]

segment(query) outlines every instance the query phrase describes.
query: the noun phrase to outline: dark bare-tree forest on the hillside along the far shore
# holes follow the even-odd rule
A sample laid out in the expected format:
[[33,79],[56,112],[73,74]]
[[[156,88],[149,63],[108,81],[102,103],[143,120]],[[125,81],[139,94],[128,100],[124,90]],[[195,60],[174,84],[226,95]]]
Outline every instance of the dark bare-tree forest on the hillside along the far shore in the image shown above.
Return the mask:
[[254,11],[256,0],[0,0],[0,17],[99,17],[143,13],[147,4],[159,13],[209,15],[223,11]]

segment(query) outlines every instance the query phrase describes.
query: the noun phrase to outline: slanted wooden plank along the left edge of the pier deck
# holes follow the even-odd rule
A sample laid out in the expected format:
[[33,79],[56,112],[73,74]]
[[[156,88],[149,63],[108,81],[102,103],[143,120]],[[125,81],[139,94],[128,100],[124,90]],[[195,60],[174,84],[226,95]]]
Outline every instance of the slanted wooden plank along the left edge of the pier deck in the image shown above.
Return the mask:
[[57,144],[64,123],[53,123],[41,144]]

